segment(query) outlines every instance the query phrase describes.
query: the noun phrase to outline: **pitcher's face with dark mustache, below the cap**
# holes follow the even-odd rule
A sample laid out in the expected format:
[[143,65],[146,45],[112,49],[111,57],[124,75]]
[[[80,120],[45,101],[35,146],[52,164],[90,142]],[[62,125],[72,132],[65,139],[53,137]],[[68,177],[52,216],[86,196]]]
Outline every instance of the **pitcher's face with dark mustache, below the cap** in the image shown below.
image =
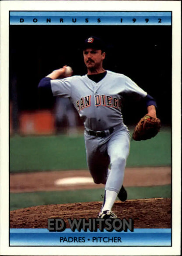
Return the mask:
[[101,50],[95,50],[93,48],[87,48],[83,52],[84,63],[88,69],[95,69],[102,66],[102,62],[105,59],[105,52]]

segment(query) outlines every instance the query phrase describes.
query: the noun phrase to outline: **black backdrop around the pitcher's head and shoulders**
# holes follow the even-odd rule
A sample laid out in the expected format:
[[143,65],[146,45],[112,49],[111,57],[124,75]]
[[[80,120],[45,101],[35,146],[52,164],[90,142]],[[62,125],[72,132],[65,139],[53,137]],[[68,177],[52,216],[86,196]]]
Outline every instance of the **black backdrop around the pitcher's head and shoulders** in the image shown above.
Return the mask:
[[[172,115],[172,27],[171,26],[10,26],[10,99],[17,97],[18,111],[52,108],[40,105],[38,82],[64,65],[73,75],[84,75],[81,43],[92,35],[108,45],[104,68],[123,73],[153,96],[158,117],[171,124]],[[16,77],[16,88],[12,79]],[[146,109],[126,102],[126,124],[136,122]]]

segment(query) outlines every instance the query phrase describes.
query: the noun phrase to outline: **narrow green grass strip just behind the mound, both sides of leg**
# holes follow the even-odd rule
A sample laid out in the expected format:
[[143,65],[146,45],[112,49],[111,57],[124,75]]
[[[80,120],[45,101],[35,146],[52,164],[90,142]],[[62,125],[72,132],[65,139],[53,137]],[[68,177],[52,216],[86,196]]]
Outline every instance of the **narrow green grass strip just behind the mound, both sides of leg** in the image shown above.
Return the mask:
[[[128,187],[128,199],[171,197],[171,185],[155,187]],[[11,193],[10,210],[35,205],[67,204],[103,201],[104,189]]]

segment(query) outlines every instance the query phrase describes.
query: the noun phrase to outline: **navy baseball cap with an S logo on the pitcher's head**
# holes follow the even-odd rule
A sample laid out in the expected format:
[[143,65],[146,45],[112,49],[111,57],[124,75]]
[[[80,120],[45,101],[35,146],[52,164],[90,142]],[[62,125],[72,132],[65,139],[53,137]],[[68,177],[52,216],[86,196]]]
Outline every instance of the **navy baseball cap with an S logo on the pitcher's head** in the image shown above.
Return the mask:
[[84,40],[84,44],[82,45],[83,50],[86,48],[105,51],[105,44],[102,39],[98,37],[88,37],[86,40]]

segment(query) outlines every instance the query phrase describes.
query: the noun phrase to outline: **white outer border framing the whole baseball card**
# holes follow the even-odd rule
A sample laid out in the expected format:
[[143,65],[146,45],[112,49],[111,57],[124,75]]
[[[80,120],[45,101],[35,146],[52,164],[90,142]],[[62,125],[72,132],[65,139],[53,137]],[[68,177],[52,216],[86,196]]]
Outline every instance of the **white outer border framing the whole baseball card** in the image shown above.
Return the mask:
[[[181,2],[1,1],[0,2],[0,254],[180,255],[181,237]],[[9,11],[172,11],[172,247],[9,247]],[[161,85],[165,86],[165,85]],[[170,102],[169,102],[170,103]],[[43,252],[43,253],[42,253]]]

